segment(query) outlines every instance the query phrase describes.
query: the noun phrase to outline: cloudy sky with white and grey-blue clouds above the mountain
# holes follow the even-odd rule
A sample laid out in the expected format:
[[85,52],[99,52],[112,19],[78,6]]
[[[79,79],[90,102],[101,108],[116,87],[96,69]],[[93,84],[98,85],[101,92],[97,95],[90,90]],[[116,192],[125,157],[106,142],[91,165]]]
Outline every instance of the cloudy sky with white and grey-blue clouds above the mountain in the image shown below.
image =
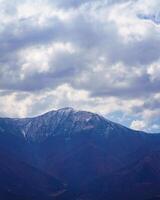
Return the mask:
[[160,132],[160,1],[0,0],[0,116],[62,107]]

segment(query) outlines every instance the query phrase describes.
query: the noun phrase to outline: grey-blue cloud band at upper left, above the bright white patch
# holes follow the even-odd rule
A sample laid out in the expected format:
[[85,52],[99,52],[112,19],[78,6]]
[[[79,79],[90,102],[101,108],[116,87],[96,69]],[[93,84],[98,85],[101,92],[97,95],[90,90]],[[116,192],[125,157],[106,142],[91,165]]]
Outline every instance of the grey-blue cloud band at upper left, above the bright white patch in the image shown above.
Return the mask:
[[[52,40],[56,40],[62,34],[63,26],[64,24],[57,18],[52,18],[51,22],[49,22],[48,26],[45,28],[39,27],[36,24],[33,25],[30,19],[19,20],[18,24],[11,23],[5,27],[5,30],[0,36],[1,57],[6,57],[8,54],[28,46],[47,44]],[[19,29],[19,27],[20,30],[18,34],[15,34],[14,31]]]

